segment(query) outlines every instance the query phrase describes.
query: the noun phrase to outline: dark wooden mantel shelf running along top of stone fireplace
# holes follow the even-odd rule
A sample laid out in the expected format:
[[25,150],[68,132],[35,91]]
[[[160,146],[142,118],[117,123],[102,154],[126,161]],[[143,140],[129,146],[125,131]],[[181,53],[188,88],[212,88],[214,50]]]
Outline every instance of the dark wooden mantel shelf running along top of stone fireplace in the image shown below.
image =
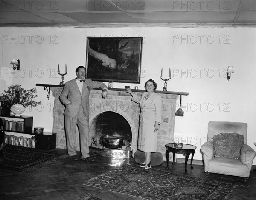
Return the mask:
[[[50,87],[64,87],[64,85],[52,85],[52,84],[41,84],[41,83],[37,83],[36,86],[42,86],[44,87],[44,90],[47,90],[48,95],[47,98],[48,100],[50,99]],[[49,87],[49,89],[47,88]],[[101,90],[99,88],[93,89],[93,90]],[[124,88],[108,88],[109,91],[126,91],[126,89]],[[133,92],[145,92],[145,90],[135,90],[135,89],[131,89],[131,91]],[[161,93],[161,94],[176,94],[176,95],[189,95],[189,93],[187,92],[173,92],[173,91],[160,91],[160,90],[155,90],[155,93]]]

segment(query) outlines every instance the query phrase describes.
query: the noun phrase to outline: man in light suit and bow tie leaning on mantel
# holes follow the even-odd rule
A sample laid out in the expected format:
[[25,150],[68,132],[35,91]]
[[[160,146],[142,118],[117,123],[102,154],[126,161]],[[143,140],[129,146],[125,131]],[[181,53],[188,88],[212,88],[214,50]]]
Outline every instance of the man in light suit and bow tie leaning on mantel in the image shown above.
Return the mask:
[[93,88],[101,88],[102,97],[108,95],[108,87],[102,82],[85,79],[85,68],[76,68],[76,79],[65,83],[60,99],[66,105],[65,130],[67,138],[67,152],[72,160],[78,160],[75,148],[76,125],[79,129],[82,160],[93,162],[89,155],[87,139],[89,136],[89,95]]

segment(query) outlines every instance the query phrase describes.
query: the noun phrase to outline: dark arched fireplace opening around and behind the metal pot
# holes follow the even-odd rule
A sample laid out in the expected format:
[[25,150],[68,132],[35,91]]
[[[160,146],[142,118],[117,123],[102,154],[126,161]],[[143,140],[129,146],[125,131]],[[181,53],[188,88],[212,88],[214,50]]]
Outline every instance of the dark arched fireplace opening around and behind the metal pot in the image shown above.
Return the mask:
[[122,115],[111,111],[100,113],[95,119],[95,138],[99,141],[103,135],[122,137],[125,139],[125,146],[132,140],[128,121]]

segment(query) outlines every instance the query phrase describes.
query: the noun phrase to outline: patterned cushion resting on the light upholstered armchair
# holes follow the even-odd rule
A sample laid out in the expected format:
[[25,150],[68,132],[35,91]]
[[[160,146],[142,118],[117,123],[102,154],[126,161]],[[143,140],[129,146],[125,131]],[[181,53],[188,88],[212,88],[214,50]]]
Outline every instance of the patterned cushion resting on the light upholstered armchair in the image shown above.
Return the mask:
[[244,136],[238,133],[220,133],[212,138],[213,155],[221,158],[240,158]]

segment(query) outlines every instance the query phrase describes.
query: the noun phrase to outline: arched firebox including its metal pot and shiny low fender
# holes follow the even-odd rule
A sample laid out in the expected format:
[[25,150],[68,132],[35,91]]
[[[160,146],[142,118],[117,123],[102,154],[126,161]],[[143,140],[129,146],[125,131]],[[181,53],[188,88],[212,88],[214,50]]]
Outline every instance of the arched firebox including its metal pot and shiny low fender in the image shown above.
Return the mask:
[[111,158],[132,157],[131,127],[119,113],[100,113],[90,123],[90,135],[94,135],[89,146],[91,153]]

